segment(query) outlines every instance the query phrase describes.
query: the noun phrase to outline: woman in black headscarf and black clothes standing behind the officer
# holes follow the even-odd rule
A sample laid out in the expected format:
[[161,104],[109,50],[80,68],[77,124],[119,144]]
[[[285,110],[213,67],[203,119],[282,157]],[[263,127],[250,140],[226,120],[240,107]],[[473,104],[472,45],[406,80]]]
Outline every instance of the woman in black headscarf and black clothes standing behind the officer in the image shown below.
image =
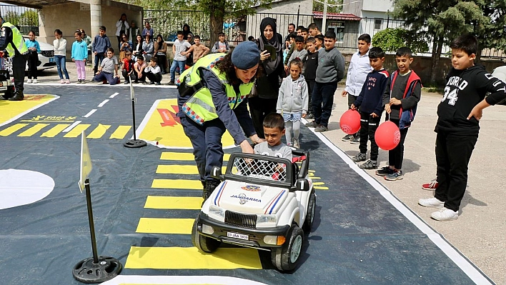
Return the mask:
[[276,113],[279,78],[284,78],[286,74],[283,66],[283,46],[277,36],[276,21],[269,17],[262,19],[260,35],[257,45],[264,75],[257,79],[258,96],[250,98],[248,104],[254,129],[258,136],[264,139],[264,118],[270,113]]

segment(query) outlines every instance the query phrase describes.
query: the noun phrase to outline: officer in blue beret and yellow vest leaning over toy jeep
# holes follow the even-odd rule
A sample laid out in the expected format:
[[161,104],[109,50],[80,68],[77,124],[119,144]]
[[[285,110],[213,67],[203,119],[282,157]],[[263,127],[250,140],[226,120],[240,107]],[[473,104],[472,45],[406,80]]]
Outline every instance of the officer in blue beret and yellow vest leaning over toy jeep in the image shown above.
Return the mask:
[[[193,154],[204,186],[203,198],[209,198],[219,180],[210,176],[213,166],[223,164],[222,136],[229,131],[242,152],[253,154],[259,139],[247,109],[247,96],[254,85],[260,53],[252,41],[237,45],[232,54],[210,54],[184,71],[179,89],[177,116],[184,134],[192,141]],[[246,136],[244,136],[246,134]]]

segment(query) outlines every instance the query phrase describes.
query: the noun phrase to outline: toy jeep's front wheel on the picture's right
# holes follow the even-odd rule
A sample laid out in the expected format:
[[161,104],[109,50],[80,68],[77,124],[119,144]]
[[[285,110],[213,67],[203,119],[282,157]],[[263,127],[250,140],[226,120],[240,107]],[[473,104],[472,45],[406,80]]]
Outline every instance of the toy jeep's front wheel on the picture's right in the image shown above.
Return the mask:
[[304,231],[298,226],[292,226],[287,235],[287,241],[282,247],[272,249],[272,264],[279,271],[292,271],[299,263],[302,251],[302,241],[304,241]]

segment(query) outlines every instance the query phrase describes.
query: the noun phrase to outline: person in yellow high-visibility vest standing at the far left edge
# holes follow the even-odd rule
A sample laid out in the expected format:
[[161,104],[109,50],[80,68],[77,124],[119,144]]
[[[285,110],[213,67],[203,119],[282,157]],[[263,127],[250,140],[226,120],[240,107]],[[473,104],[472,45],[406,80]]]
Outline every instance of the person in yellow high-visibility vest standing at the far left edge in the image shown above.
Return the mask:
[[[14,76],[14,86],[16,91],[11,101],[21,101],[24,99],[24,71],[26,69],[26,59],[28,59],[28,48],[24,44],[23,35],[13,24],[4,20],[0,15],[0,54],[6,56],[5,51],[12,57],[12,75]],[[0,99],[5,99],[0,96]]]

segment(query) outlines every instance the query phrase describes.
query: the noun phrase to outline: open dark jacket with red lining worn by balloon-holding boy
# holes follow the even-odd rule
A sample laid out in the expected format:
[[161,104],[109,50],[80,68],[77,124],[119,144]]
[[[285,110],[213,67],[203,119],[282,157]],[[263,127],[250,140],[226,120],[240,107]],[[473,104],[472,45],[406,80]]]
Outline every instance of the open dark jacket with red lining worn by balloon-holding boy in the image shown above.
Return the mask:
[[[388,104],[392,96],[392,89],[395,85],[395,80],[399,76],[399,70],[396,70],[390,76],[390,80],[387,81],[387,88],[385,94],[383,94],[383,105]],[[415,119],[417,114],[417,104],[420,101],[422,81],[415,71],[410,72],[410,76],[407,79],[406,89],[402,98],[397,98],[402,101],[400,105],[390,106],[390,119],[399,120],[399,129],[405,129],[411,126],[411,122]]]

